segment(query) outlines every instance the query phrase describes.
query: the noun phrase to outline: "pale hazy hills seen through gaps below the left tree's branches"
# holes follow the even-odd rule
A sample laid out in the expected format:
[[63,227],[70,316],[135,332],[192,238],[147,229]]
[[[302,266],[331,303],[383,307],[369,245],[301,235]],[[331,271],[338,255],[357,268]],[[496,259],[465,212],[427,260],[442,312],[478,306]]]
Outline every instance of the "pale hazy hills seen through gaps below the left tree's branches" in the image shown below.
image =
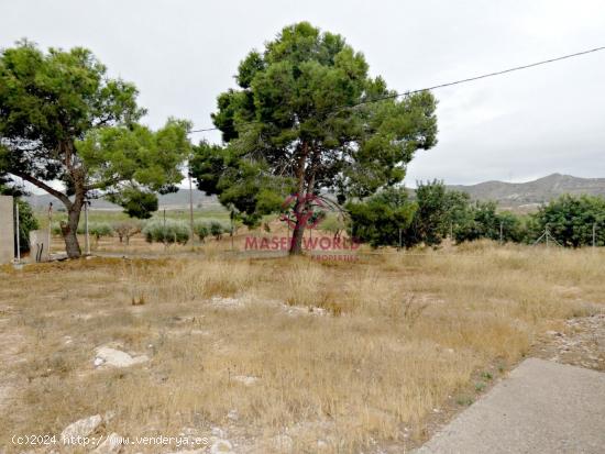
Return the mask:
[[[63,203],[47,193],[31,195],[26,197],[28,201],[34,209],[46,209],[50,202],[53,202],[54,207],[62,207]],[[177,210],[189,207],[189,189],[179,189],[177,192],[166,193],[158,196],[160,209]],[[122,210],[122,207],[108,202],[103,199],[97,199],[91,201],[91,209],[94,210]],[[194,189],[194,207],[199,208],[218,208],[220,203],[215,196],[206,196],[202,191]]]

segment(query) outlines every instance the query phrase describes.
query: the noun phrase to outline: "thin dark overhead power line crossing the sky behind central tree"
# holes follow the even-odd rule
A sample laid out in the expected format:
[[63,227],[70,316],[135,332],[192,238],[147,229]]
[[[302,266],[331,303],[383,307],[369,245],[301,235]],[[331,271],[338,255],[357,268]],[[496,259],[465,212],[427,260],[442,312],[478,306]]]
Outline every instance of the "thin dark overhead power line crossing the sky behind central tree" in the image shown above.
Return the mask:
[[[352,106],[342,106],[338,109],[334,109],[331,112],[329,111],[329,112],[326,112],[326,113],[336,113],[336,112],[339,112],[343,109],[352,109],[352,108],[355,108],[358,106],[364,106],[364,104],[370,104],[370,103],[373,103],[373,102],[380,102],[380,101],[384,101],[386,99],[396,99],[396,98],[399,98],[402,96],[409,96],[409,95],[419,93],[419,92],[422,92],[422,91],[438,90],[440,88],[452,87],[452,86],[461,85],[461,84],[469,84],[469,82],[472,82],[472,81],[475,81],[475,80],[486,79],[488,77],[502,76],[504,74],[519,71],[519,70],[522,70],[522,69],[529,69],[529,68],[534,68],[536,66],[548,65],[548,64],[551,64],[551,63],[561,62],[561,60],[564,60],[564,59],[574,58],[574,57],[579,57],[579,56],[586,55],[586,54],[593,54],[593,53],[600,52],[600,51],[605,51],[605,46],[595,47],[595,48],[591,48],[591,49],[587,49],[587,51],[581,51],[581,52],[576,52],[574,54],[562,55],[560,57],[549,58],[549,59],[541,60],[541,62],[530,63],[528,65],[515,66],[515,67],[512,67],[512,68],[508,68],[508,69],[502,69],[502,70],[494,71],[494,73],[482,74],[480,76],[468,77],[465,79],[459,79],[459,80],[454,80],[452,82],[439,84],[439,85],[433,85],[432,87],[420,88],[420,89],[416,89],[416,90],[411,90],[411,91],[405,91],[403,93],[395,92],[395,93],[386,95],[386,96],[383,96],[383,97],[364,100],[364,101],[358,102],[358,103],[352,104]],[[240,123],[240,125],[254,124],[254,123],[260,123],[260,122],[257,120],[254,120],[254,121],[242,122],[242,123]],[[200,130],[189,131],[189,133],[210,132],[210,131],[218,131],[218,130],[219,129],[216,128],[216,126],[215,128],[205,128],[205,129],[200,129]]]

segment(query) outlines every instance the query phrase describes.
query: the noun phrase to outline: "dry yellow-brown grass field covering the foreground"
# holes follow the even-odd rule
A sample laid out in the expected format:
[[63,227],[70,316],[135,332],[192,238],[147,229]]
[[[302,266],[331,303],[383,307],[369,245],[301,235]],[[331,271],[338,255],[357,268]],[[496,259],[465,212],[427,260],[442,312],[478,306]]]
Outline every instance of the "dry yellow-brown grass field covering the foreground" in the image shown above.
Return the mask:
[[[219,427],[235,452],[400,452],[477,373],[597,310],[604,259],[476,243],[356,263],[215,253],[3,268],[0,446],[114,411],[107,433]],[[103,344],[151,361],[95,369]]]

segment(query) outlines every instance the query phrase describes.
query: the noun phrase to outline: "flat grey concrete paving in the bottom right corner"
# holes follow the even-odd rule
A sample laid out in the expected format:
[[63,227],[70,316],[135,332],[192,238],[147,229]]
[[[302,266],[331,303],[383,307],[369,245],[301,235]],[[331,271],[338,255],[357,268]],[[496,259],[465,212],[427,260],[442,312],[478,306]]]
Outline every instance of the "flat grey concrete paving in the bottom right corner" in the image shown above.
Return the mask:
[[417,454],[605,453],[605,374],[529,358]]

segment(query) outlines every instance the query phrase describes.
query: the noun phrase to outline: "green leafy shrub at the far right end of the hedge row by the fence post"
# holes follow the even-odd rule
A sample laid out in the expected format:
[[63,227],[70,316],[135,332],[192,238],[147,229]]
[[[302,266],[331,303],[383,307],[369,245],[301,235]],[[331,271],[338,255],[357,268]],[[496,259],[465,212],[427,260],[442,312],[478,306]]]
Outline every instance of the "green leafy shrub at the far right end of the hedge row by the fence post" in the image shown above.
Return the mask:
[[548,228],[559,244],[568,247],[591,245],[596,224],[596,245],[605,245],[605,198],[562,196],[540,207],[534,217],[534,235]]

